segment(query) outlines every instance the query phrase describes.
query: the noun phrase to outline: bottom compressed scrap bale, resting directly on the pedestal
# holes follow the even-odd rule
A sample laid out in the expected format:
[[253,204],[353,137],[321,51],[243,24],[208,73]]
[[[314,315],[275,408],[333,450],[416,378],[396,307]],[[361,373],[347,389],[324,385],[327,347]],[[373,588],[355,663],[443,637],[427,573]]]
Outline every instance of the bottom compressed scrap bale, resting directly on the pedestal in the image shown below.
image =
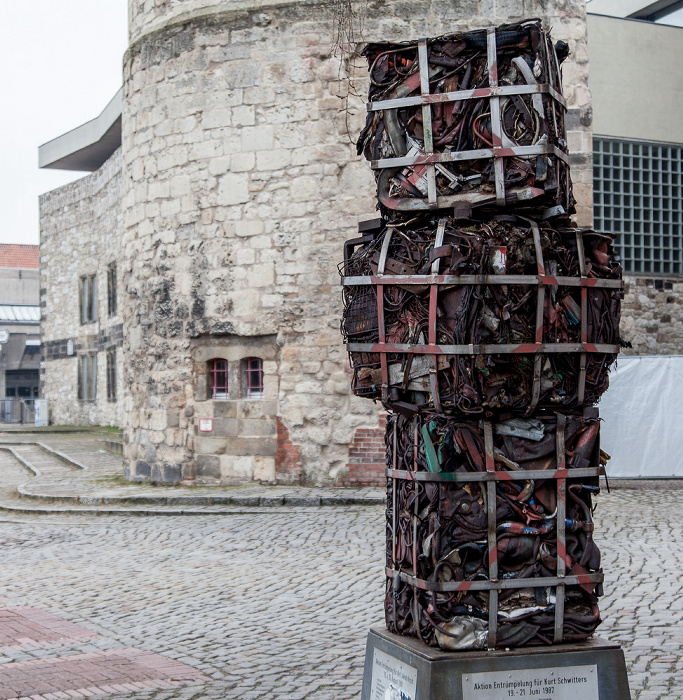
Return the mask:
[[[599,490],[606,457],[597,411],[489,425],[487,458],[482,421],[389,417],[387,466],[394,471],[387,479],[387,627],[450,650],[586,639],[600,624],[602,594],[591,517],[591,494]],[[469,480],[492,468],[504,473],[493,492],[486,481]],[[558,491],[555,478],[513,480],[520,470],[566,474],[566,482]],[[573,478],[572,471],[581,476]],[[522,585],[490,597],[490,580]],[[558,581],[568,585],[558,588]]]

